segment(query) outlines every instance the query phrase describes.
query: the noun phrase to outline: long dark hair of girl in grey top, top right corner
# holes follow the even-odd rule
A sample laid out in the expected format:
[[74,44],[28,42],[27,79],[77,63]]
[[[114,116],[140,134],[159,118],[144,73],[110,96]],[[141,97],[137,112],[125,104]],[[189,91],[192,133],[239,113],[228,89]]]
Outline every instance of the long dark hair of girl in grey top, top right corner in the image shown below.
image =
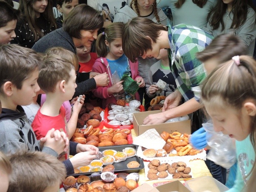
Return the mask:
[[[221,31],[223,31],[225,28],[223,16],[226,13],[228,5],[223,3],[222,0],[217,1],[218,2],[216,3],[216,6],[209,12],[207,20],[209,24],[212,26],[213,30],[218,29],[219,25],[221,24]],[[233,12],[233,18],[231,28],[239,28],[241,25],[245,23],[248,13],[248,6],[252,7],[253,10],[256,12],[252,0],[234,0],[232,2],[231,11]]]

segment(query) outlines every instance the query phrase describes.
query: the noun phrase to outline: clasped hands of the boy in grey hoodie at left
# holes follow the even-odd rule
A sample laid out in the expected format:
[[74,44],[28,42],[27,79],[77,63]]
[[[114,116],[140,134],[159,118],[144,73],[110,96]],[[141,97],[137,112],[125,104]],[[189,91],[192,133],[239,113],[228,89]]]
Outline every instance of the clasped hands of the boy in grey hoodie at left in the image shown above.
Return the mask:
[[49,147],[56,151],[59,155],[63,151],[67,151],[69,140],[63,131],[60,132],[52,128],[47,132],[45,137],[40,139],[40,143],[43,144],[44,147]]

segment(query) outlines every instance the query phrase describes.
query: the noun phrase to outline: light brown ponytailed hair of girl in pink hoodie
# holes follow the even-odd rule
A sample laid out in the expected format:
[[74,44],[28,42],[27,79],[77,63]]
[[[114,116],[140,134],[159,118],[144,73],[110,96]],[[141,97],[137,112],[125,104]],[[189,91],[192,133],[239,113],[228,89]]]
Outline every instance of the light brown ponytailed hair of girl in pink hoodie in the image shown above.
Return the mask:
[[116,38],[122,38],[123,29],[124,24],[116,22],[107,26],[105,31],[98,35],[96,40],[96,52],[99,56],[106,57],[107,53],[109,52],[109,48],[105,44],[105,40],[107,40],[107,42],[110,44]]

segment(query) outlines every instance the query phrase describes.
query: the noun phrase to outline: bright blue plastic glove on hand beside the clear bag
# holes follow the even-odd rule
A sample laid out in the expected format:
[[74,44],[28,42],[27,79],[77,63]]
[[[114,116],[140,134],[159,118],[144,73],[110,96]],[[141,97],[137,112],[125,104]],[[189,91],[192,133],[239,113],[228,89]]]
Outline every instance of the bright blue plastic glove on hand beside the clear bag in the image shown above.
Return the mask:
[[199,128],[191,135],[190,142],[193,147],[197,149],[203,149],[207,146],[206,131],[204,130],[204,127]]

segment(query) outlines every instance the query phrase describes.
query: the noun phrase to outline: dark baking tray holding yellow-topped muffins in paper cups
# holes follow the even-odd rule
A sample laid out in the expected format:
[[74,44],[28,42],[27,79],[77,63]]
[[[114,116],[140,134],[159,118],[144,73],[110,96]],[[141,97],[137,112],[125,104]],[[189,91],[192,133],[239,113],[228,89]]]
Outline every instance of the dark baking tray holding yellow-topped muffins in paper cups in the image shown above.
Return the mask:
[[[132,147],[137,151],[138,145],[134,145],[134,144],[129,144],[129,145],[113,145],[113,146],[106,146],[106,147],[98,147],[99,151],[104,151],[104,150],[108,150],[108,149],[112,149],[112,150],[116,150],[116,151],[123,151],[124,148],[126,147]],[[138,168],[127,168],[127,164],[130,161],[137,161],[140,164],[140,167]],[[144,168],[144,163],[143,163],[143,159],[141,159],[140,157],[137,157],[136,155],[130,158],[127,158],[125,161],[119,162],[119,163],[113,163],[114,167],[115,167],[115,173],[133,173],[133,172],[139,172],[140,169]],[[103,166],[105,167],[105,166]],[[86,172],[86,173],[77,173],[77,174],[71,174],[74,177],[78,177],[79,175],[91,175],[94,172]],[[100,173],[100,172],[99,172]]]

